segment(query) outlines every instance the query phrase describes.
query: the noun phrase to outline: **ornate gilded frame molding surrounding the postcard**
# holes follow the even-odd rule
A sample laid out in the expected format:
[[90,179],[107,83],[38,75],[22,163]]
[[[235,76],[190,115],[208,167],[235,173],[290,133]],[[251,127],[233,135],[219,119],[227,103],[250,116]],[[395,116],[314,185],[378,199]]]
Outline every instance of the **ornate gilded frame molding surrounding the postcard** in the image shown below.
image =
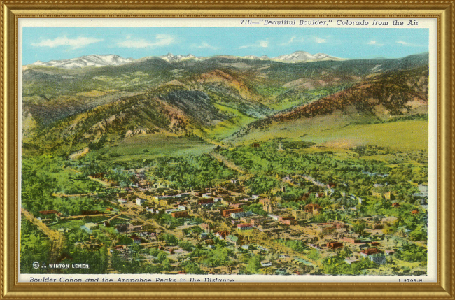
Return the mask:
[[[455,1],[0,1],[1,85],[0,299],[418,298],[454,299],[453,208]],[[212,283],[141,285],[18,283],[18,18],[19,17],[437,17],[438,251],[437,283]]]

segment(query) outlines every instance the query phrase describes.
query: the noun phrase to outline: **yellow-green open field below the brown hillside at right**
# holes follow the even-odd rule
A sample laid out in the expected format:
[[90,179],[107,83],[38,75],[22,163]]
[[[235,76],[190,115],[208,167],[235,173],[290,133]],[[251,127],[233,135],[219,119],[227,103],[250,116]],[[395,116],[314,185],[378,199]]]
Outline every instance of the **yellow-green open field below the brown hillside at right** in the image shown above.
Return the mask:
[[[392,150],[410,151],[428,149],[428,121],[407,120],[379,124],[343,125],[339,118],[321,117],[309,122],[273,124],[267,129],[254,129],[238,139],[230,137],[230,143],[245,145],[254,141],[271,138],[291,138],[295,141],[309,141],[324,148],[355,148],[362,145],[378,145]],[[309,119],[313,120],[314,119]]]

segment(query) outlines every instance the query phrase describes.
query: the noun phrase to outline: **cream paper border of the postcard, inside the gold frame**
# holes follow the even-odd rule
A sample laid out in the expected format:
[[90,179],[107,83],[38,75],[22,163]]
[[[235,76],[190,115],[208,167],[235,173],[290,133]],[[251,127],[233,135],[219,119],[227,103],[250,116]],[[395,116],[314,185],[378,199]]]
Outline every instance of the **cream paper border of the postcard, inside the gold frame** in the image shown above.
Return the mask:
[[[19,178],[18,178],[18,189],[21,188],[21,169],[22,166],[22,28],[23,27],[244,27],[239,24],[239,20],[248,18],[19,18],[18,20],[18,166],[19,166]],[[253,22],[259,22],[259,18],[250,18]],[[274,17],[261,17],[261,19],[267,20],[283,20],[283,18]],[[300,275],[300,276],[279,276],[279,275],[169,275],[169,274],[91,274],[91,275],[80,275],[80,274],[20,274],[20,259],[18,260],[18,281],[19,282],[30,282],[31,278],[51,278],[55,279],[55,282],[69,283],[76,280],[82,280],[85,282],[87,279],[99,278],[99,282],[102,282],[102,278],[113,279],[113,282],[121,280],[129,280],[131,282],[142,282],[147,280],[148,283],[159,283],[157,280],[168,280],[175,279],[176,283],[181,283],[181,279],[185,279],[188,283],[190,278],[200,279],[201,283],[207,283],[206,278],[218,278],[234,280],[234,282],[288,282],[288,283],[350,283],[350,282],[374,282],[374,283],[398,283],[398,279],[416,279],[417,282],[421,279],[421,283],[435,283],[437,282],[437,19],[436,18],[403,18],[403,17],[374,17],[374,18],[353,18],[353,17],[306,17],[306,18],[295,18],[285,17],[285,19],[296,19],[296,20],[365,20],[372,23],[372,20],[388,21],[389,24],[393,20],[409,22],[409,20],[418,20],[419,25],[410,27],[409,29],[415,28],[428,28],[429,31],[429,107],[428,107],[428,260],[427,260],[427,271],[428,275],[423,276],[319,276],[319,275]],[[297,21],[298,22],[298,21]],[[276,27],[276,28],[296,28],[299,26],[263,26],[262,24],[252,24],[248,27]],[[391,28],[395,29],[396,26],[388,25],[381,27],[369,26],[338,26],[336,22],[332,22],[328,26],[305,26],[304,28]],[[398,27],[400,29],[407,29],[407,27]],[[229,53],[223,53],[229,55]],[[433,167],[431,167],[433,166]],[[20,197],[20,193],[19,193]],[[19,208],[20,208],[20,199]],[[20,211],[18,213],[18,220],[20,220]],[[20,233],[20,222],[18,224],[18,232]],[[19,257],[20,257],[20,234],[18,237],[19,242]],[[151,280],[151,281],[148,281]],[[162,282],[160,282],[162,283]]]

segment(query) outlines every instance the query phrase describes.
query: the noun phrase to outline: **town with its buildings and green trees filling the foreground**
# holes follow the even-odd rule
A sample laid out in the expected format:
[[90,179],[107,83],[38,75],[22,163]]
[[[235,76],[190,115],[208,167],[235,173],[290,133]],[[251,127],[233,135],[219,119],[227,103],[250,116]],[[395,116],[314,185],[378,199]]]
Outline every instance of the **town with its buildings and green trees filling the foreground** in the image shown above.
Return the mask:
[[[288,157],[298,166],[302,157],[293,154],[292,146],[274,141],[237,151]],[[426,273],[426,184],[408,183],[412,188],[405,189],[406,198],[393,184],[399,168],[385,173],[377,163],[381,172],[363,169],[354,180],[367,178],[367,190],[349,188],[352,184],[343,176],[332,177],[333,182],[314,177],[324,172],[321,168],[311,175],[270,172],[258,185],[259,176],[239,155],[235,158],[235,151],[218,149],[202,158],[207,159],[204,166],[225,173],[207,178],[209,186],[199,188],[169,180],[169,170],[184,171],[185,159],[157,159],[144,168],[99,173],[73,162],[64,171],[97,185],[96,191],[53,192],[65,203],[59,210],[35,209],[32,214],[22,205],[22,226],[47,235],[49,242],[43,245],[52,245],[45,254],[48,262],[90,265],[76,270],[80,273]],[[71,211],[69,201],[80,197],[92,199],[90,209]]]

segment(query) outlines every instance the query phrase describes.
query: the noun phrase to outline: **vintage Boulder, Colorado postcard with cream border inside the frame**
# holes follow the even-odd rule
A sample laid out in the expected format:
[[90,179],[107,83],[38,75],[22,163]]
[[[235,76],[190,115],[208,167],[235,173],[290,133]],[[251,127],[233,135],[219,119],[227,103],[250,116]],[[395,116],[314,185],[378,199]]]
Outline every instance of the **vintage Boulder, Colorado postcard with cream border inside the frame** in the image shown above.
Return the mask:
[[20,281],[436,281],[436,19],[19,29]]

